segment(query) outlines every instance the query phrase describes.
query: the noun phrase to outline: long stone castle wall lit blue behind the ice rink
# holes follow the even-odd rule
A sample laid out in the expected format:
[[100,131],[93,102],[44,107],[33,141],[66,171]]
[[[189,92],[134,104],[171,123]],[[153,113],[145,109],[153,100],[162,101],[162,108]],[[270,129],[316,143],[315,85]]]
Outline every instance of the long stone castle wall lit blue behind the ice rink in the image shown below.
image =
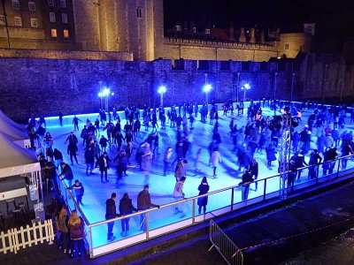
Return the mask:
[[[99,81],[110,87],[115,95],[109,106],[127,104],[151,106],[159,104],[158,87],[167,88],[164,103],[203,102],[202,87],[212,84],[209,101],[224,102],[243,99],[241,87],[250,84],[246,98],[289,99],[294,76],[294,99],[320,98],[319,82],[323,57],[309,55],[301,67],[292,64],[251,63],[235,61],[153,62],[65,60],[37,58],[0,58],[0,107],[9,117],[26,120],[30,115],[52,116],[61,110],[64,114],[88,113],[100,108]],[[328,63],[329,64],[329,63]],[[322,66],[321,66],[322,65]],[[328,96],[338,96],[338,77],[342,74],[342,60],[329,64],[327,74]],[[336,66],[337,65],[337,66]],[[342,66],[341,66],[342,67]],[[275,70],[277,75],[275,75]],[[347,70],[343,95],[353,93],[353,69]],[[276,85],[275,85],[276,79]]]

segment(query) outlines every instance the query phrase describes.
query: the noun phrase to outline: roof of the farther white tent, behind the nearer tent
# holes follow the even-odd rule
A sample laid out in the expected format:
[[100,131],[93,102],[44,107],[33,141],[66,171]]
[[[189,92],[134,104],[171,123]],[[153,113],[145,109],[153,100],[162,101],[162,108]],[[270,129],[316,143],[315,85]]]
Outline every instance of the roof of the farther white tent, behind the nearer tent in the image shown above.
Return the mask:
[[16,123],[12,121],[9,117],[5,116],[4,113],[0,111],[0,132],[3,132],[7,138],[15,142],[21,148],[30,148],[31,142],[29,140],[28,134],[25,131],[25,127],[19,129]]

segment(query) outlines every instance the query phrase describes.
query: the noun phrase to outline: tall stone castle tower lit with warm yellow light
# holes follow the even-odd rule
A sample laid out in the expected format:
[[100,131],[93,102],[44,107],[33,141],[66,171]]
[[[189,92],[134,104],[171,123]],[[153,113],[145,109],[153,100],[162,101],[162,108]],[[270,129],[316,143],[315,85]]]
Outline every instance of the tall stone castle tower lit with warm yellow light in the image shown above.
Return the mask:
[[76,42],[84,50],[129,51],[150,61],[164,39],[163,0],[73,0]]

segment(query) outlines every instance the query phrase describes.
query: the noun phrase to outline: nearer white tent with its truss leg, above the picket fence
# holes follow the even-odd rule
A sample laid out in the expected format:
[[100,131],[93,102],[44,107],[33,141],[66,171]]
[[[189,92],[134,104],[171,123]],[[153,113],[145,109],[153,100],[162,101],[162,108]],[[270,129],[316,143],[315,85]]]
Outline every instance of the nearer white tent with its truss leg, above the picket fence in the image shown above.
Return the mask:
[[[35,199],[40,203],[39,193],[42,192],[41,166],[30,149],[20,148],[0,132],[0,179],[26,175],[29,178],[29,189],[35,191]],[[25,193],[26,191],[26,193]],[[27,195],[27,189],[9,190],[0,194],[0,201]]]

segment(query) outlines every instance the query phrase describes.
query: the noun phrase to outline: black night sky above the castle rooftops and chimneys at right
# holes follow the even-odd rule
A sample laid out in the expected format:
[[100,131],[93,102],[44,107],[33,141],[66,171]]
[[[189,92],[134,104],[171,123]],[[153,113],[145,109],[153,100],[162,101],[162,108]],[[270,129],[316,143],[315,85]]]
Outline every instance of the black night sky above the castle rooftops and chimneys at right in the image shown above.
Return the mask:
[[281,27],[301,30],[316,22],[319,35],[354,34],[354,0],[164,0],[165,29],[180,20],[193,20],[196,27]]

